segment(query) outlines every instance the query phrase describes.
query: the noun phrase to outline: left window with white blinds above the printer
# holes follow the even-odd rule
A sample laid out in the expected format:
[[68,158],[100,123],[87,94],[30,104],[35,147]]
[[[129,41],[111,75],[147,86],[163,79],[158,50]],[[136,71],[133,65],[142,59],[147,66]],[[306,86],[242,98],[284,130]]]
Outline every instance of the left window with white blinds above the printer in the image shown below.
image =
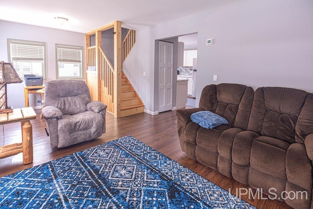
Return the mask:
[[46,74],[46,46],[44,42],[8,39],[8,61],[23,79],[24,74]]

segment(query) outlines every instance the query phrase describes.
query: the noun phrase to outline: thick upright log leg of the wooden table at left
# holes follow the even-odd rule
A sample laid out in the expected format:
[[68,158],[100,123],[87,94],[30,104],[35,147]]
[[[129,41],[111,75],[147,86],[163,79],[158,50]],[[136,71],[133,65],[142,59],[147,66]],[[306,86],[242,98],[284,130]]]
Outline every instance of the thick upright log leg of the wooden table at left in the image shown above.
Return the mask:
[[29,120],[22,121],[23,163],[33,162],[33,129]]

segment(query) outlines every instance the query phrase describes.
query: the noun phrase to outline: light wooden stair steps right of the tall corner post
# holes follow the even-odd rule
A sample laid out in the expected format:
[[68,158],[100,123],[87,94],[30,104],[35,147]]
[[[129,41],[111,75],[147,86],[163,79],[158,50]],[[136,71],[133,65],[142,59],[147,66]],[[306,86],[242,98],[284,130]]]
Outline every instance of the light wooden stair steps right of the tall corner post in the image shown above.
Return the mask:
[[124,72],[122,72],[121,83],[121,117],[143,113],[144,104]]

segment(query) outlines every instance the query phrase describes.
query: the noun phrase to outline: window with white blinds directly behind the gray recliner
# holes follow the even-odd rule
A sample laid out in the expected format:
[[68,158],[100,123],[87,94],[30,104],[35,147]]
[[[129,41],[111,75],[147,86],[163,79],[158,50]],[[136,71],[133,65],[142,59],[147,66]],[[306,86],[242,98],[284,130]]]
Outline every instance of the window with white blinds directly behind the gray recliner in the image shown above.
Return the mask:
[[57,79],[83,78],[82,46],[56,44]]

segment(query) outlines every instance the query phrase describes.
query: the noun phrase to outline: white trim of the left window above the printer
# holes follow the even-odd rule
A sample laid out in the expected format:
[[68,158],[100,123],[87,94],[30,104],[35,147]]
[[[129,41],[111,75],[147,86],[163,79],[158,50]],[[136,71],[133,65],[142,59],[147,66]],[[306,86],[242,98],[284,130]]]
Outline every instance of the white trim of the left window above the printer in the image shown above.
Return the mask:
[[[43,46],[44,47],[44,54],[43,54],[44,70],[42,73],[44,76],[44,80],[46,80],[47,79],[47,77],[46,77],[46,75],[47,75],[46,43],[45,42],[37,42],[37,41],[18,40],[18,39],[7,39],[8,62],[13,64],[14,60],[12,60],[12,57],[11,57],[11,44],[25,44],[25,45],[29,45],[29,46],[32,45],[32,46]],[[33,60],[36,60],[36,59],[28,59],[25,61],[33,61]],[[21,77],[21,79],[23,80],[24,78]]]

